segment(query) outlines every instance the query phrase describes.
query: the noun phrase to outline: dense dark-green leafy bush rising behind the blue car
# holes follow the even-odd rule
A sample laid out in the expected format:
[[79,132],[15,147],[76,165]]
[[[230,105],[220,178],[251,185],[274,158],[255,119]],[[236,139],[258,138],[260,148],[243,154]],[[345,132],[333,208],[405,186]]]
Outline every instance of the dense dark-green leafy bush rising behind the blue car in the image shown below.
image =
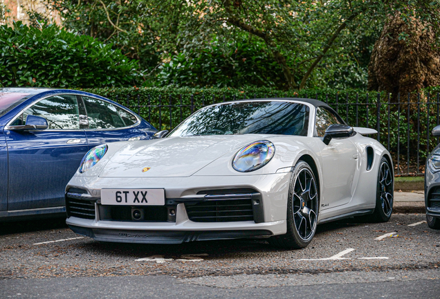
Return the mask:
[[57,26],[0,26],[0,49],[2,87],[122,87],[140,80],[136,61],[111,44]]

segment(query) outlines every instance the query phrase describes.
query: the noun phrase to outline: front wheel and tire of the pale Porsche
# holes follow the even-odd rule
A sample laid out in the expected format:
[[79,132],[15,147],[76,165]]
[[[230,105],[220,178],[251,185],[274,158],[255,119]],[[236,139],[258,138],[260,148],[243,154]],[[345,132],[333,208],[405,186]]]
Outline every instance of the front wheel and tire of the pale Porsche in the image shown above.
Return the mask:
[[313,170],[298,161],[291,176],[287,201],[287,233],[271,237],[271,244],[282,248],[304,248],[316,232],[319,194]]

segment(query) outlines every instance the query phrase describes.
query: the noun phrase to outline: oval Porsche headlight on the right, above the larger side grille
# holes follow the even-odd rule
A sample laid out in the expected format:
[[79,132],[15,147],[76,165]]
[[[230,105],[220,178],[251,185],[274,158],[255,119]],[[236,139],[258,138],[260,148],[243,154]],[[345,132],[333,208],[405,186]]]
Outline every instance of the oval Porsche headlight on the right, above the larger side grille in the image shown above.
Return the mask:
[[239,172],[251,172],[271,161],[273,154],[275,154],[275,145],[271,141],[256,141],[235,154],[232,167]]

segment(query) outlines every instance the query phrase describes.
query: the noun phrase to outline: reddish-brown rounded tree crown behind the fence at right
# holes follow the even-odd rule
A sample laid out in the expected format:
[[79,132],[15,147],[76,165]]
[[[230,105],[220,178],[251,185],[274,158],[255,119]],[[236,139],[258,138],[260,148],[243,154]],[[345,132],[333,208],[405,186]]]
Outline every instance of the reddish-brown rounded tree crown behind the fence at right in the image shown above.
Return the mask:
[[405,95],[440,86],[440,47],[435,27],[411,16],[405,21],[405,17],[401,12],[390,17],[369,64],[369,90],[387,91],[394,100],[399,92]]

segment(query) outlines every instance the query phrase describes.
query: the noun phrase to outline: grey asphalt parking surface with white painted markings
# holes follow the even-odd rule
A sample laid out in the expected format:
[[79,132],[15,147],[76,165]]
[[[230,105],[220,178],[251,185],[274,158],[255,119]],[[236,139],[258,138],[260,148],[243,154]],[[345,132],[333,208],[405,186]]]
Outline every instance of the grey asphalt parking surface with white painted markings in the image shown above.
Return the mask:
[[62,220],[1,224],[0,297],[439,298],[440,231],[422,221],[323,224],[297,251],[263,239],[109,244]]

